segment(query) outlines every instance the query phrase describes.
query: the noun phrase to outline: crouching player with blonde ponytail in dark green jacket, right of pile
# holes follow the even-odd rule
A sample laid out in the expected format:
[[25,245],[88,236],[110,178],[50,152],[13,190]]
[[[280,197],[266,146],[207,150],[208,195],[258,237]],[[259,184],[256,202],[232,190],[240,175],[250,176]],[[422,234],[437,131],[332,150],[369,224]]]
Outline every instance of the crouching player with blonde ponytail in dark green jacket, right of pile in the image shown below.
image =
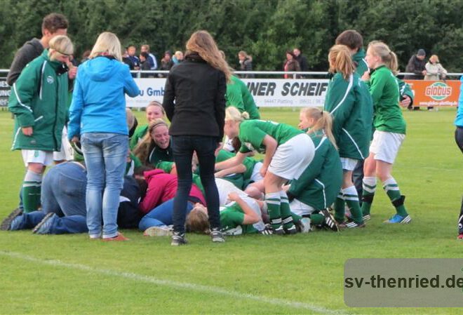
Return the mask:
[[291,212],[309,217],[311,225],[321,225],[337,231],[337,223],[328,208],[333,204],[342,185],[342,165],[328,112],[307,107],[300,112],[299,128],[315,145],[314,159],[297,179],[290,182],[287,191]]

